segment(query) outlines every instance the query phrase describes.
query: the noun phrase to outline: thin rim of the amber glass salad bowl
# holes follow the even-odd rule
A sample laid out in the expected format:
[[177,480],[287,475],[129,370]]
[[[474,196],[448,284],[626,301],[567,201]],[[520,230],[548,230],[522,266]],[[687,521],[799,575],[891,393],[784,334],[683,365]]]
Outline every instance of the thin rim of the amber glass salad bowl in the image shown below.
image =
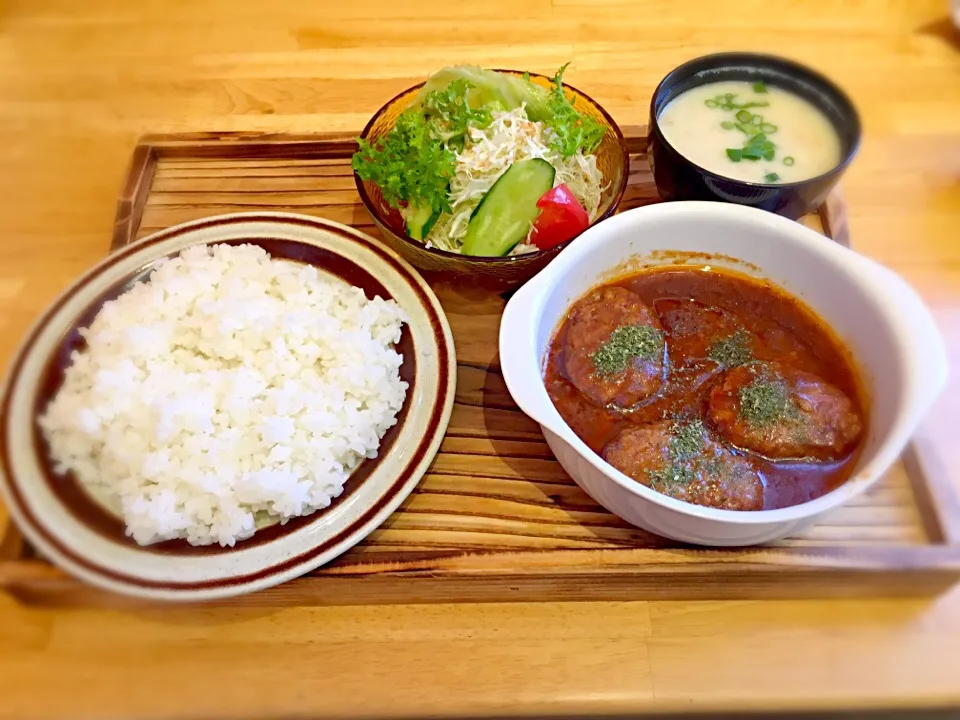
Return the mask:
[[[511,70],[507,68],[490,68],[490,69],[493,70],[493,72],[509,73],[511,75],[521,75],[521,76],[526,74],[526,75],[529,75],[530,77],[539,77],[539,78],[543,78],[544,80],[552,80],[552,78],[546,75],[543,75],[542,73],[528,72],[525,70]],[[426,83],[427,81],[423,80],[417,83],[416,85],[411,85],[405,90],[401,90],[392,98],[390,98],[387,102],[381,105],[380,108],[370,117],[370,120],[367,121],[367,124],[364,126],[363,130],[360,132],[360,136],[359,136],[360,139],[366,140],[367,135],[369,134],[370,130],[373,128],[373,125],[376,123],[377,119],[387,110],[387,108],[389,108],[391,105],[393,105],[393,103],[395,103],[397,100],[399,100],[401,97],[403,97],[407,93],[413,90],[418,90],[422,88],[424,85],[426,85]],[[600,103],[598,103],[596,100],[594,100],[592,97],[587,95],[582,90],[574,87],[569,83],[565,82],[563,83],[563,86],[577,93],[579,96],[582,96],[587,102],[591,103],[595,108],[597,108],[597,110],[603,116],[603,119],[606,121],[607,125],[613,130],[616,137],[617,147],[620,148],[621,155],[623,156],[623,162],[621,163],[623,174],[622,174],[622,181],[620,182],[620,187],[614,193],[612,201],[610,203],[610,207],[607,208],[602,214],[598,215],[596,219],[587,226],[586,230],[589,230],[591,227],[593,227],[597,223],[600,223],[606,220],[611,215],[613,215],[617,211],[617,209],[620,207],[620,202],[623,200],[623,195],[627,190],[627,182],[630,177],[630,152],[627,150],[627,142],[626,142],[626,139],[623,137],[623,131],[620,130],[620,126],[617,125],[614,119],[610,116],[610,113],[608,113]],[[353,181],[356,184],[357,193],[360,195],[360,201],[363,203],[363,206],[364,208],[366,208],[367,212],[370,213],[370,215],[373,216],[379,222],[384,222],[382,215],[376,211],[373,205],[373,202],[370,200],[370,196],[367,193],[366,188],[364,187],[364,181],[360,179],[360,176],[357,174],[356,170],[353,171]],[[386,223],[384,222],[384,224]],[[586,230],[584,230],[583,232],[586,232]],[[523,253],[521,255],[507,255],[507,256],[501,256],[501,257],[493,257],[488,255],[464,255],[462,253],[450,252],[449,250],[441,250],[440,248],[428,248],[425,243],[422,243],[419,240],[414,240],[405,232],[399,233],[394,231],[392,228],[390,229],[390,232],[393,233],[396,237],[403,240],[404,242],[411,243],[412,245],[416,246],[420,250],[423,250],[432,255],[436,255],[437,257],[442,257],[447,259],[456,259],[463,262],[471,262],[471,263],[477,262],[485,265],[497,265],[497,264],[511,265],[514,263],[522,263],[524,261],[529,262],[532,258],[543,257],[544,254],[547,254],[547,253],[552,253],[555,255],[560,251],[562,251],[570,243],[572,243],[574,240],[580,237],[580,235],[583,234],[583,233],[579,233],[578,235],[567,240],[566,242],[561,243],[560,245],[556,245],[555,247],[552,247],[552,248],[547,248],[546,250],[537,250],[536,252],[533,252],[533,253]]]

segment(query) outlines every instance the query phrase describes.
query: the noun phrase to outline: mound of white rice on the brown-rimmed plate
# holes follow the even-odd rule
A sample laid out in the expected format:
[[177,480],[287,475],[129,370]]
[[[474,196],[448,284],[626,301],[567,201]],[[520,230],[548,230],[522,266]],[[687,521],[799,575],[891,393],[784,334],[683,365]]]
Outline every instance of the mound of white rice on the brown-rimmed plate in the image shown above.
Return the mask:
[[260,247],[193,247],[103,306],[40,425],[57,471],[141,545],[233,545],[327,507],[376,457],[407,391],[405,321]]

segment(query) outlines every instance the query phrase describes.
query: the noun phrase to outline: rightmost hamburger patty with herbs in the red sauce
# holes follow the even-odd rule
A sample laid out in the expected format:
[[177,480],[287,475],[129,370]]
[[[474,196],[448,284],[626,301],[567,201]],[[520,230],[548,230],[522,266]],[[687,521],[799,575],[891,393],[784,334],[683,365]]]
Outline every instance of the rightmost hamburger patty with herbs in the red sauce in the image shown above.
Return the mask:
[[730,370],[710,391],[710,420],[727,442],[771,458],[837,460],[863,430],[843,391],[782,363]]

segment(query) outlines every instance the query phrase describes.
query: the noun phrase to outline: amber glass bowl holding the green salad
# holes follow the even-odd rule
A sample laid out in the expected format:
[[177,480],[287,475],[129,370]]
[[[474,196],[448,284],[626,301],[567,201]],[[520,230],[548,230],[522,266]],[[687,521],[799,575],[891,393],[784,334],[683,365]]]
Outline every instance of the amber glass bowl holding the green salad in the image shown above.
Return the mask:
[[[525,73],[517,70],[497,70],[497,72],[518,77],[525,76]],[[551,78],[545,75],[529,73],[526,77],[548,90],[552,87]],[[423,85],[424,83],[414,85],[387,102],[370,119],[360,137],[370,143],[376,143],[377,140],[385,137],[393,129],[400,113],[413,104]],[[565,83],[563,87],[580,113],[593,118],[606,128],[603,140],[594,151],[597,156],[597,168],[603,175],[600,205],[595,219],[590,223],[595,225],[616,211],[626,189],[630,158],[623,133],[620,132],[613,118],[588,95]],[[471,286],[498,291],[519,287],[546,267],[570,243],[576,242],[574,237],[547,250],[501,257],[462,255],[427,247],[423,242],[413,239],[406,233],[405,223],[399,210],[387,204],[376,184],[369,180],[362,180],[356,173],[354,173],[354,181],[364,207],[370,213],[387,245],[420,270],[442,276],[455,276],[453,279],[456,281],[465,282]]]

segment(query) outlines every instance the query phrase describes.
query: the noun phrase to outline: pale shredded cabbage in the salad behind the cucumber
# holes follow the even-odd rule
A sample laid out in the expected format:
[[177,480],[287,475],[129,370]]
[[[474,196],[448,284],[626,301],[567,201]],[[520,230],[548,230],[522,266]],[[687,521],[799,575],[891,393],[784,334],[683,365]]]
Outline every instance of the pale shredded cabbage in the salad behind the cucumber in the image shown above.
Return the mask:
[[[495,111],[492,117],[488,127],[468,130],[464,149],[456,156],[455,174],[450,179],[448,199],[452,212],[440,215],[427,235],[427,247],[460,252],[470,216],[483,196],[513,163],[532,157],[543,158],[553,165],[556,169],[554,187],[566,184],[593,222],[604,190],[603,173],[597,168],[596,155],[577,152],[562,157],[549,146],[553,130],[542,122],[530,120],[525,103],[513,110]],[[532,234],[531,227],[526,242],[514,248],[511,255],[536,251],[536,246],[530,243]]]

